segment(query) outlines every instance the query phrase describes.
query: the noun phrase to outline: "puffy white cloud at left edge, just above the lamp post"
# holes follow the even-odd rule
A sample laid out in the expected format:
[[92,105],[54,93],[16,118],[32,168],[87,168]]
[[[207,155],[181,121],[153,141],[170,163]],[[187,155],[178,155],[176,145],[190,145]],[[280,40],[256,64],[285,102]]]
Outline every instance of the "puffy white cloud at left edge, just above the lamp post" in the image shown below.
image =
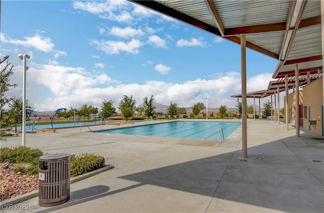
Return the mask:
[[51,39],[49,37],[42,37],[41,35],[36,34],[34,37],[25,37],[24,39],[25,40],[7,38],[6,34],[1,33],[1,41],[4,43],[28,48],[31,47],[43,52],[51,52],[54,49],[54,44],[51,42]]

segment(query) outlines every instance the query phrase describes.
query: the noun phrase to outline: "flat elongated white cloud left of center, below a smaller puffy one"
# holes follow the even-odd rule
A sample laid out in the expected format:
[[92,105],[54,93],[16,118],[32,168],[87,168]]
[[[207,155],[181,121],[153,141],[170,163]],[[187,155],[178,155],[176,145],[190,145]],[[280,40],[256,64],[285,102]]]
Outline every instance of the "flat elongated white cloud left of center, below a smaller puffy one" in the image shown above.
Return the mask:
[[96,45],[97,49],[104,51],[109,55],[118,54],[120,51],[138,54],[139,48],[143,45],[142,42],[136,39],[132,39],[130,42],[116,42],[116,41],[101,41],[93,40],[90,42],[92,45]]

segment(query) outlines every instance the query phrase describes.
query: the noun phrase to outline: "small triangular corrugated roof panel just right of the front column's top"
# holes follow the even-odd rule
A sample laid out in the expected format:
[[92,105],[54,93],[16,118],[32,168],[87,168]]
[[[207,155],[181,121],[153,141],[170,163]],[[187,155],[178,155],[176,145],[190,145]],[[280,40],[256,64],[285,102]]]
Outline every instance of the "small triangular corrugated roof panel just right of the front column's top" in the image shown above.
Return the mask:
[[284,37],[284,32],[256,33],[248,34],[247,41],[279,54],[282,37]]

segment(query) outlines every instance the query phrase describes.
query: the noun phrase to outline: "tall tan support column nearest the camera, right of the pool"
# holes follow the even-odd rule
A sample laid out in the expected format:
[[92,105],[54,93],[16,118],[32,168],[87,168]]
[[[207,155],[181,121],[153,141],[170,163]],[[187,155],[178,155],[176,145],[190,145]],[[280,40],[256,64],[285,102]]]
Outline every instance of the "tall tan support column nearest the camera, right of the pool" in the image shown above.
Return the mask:
[[248,157],[248,118],[247,118],[247,42],[246,34],[241,37],[241,87],[242,87],[242,157]]

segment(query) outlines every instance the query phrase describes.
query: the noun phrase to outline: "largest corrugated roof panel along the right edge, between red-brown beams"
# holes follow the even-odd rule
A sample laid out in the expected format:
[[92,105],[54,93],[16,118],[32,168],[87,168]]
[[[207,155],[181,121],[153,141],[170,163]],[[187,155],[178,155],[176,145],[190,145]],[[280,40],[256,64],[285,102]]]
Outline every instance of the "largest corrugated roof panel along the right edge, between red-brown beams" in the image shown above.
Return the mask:
[[297,30],[287,60],[321,55],[320,25]]

